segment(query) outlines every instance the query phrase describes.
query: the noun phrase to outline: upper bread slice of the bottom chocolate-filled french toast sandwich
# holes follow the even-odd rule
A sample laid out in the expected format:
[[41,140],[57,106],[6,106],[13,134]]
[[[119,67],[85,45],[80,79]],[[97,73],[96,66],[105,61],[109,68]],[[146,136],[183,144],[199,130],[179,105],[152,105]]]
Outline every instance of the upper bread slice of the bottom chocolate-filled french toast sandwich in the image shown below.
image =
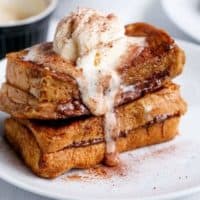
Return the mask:
[[[115,112],[119,131],[126,134],[145,124],[159,122],[170,116],[183,115],[186,112],[186,103],[180,96],[179,86],[169,83],[154,93],[118,107]],[[45,153],[55,152],[83,141],[104,139],[103,117],[17,121],[32,132],[41,151]]]

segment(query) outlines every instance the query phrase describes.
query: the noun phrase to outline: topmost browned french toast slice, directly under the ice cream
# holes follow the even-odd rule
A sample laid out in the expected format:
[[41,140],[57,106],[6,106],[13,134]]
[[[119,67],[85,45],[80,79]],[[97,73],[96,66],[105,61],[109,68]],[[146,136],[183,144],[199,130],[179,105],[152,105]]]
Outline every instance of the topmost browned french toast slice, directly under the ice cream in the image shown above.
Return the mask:
[[[164,31],[145,23],[135,23],[126,26],[129,36],[146,37],[147,45],[139,56],[130,56],[118,72],[122,83],[133,90],[121,90],[115,106],[130,102],[149,91],[157,90],[182,72],[185,62],[184,52],[174,40]],[[9,85],[32,95],[39,103],[55,103],[61,106],[59,116],[23,116],[18,118],[57,119],[90,114],[81,101],[81,94],[75,81],[75,64],[63,60],[50,50],[52,43],[44,44],[44,55],[41,63],[24,59],[29,50],[7,55],[6,81]],[[69,106],[68,106],[69,105]],[[30,105],[30,106],[35,106]],[[70,107],[70,109],[69,109]]]

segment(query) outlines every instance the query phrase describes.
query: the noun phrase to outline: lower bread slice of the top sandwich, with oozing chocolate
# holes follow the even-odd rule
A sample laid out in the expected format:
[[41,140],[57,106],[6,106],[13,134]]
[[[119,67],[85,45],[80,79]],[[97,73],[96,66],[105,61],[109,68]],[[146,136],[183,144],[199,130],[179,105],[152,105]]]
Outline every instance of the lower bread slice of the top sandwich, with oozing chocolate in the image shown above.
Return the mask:
[[[165,81],[166,85],[167,83],[168,81]],[[152,88],[153,84],[152,82],[150,88],[145,87],[145,91],[138,91],[137,95],[144,96],[159,88],[155,85]],[[133,97],[132,94],[129,94],[129,96]],[[0,110],[20,119],[66,119],[90,114],[80,101],[75,100],[68,103],[39,102],[33,95],[8,83],[4,83],[0,91]]]

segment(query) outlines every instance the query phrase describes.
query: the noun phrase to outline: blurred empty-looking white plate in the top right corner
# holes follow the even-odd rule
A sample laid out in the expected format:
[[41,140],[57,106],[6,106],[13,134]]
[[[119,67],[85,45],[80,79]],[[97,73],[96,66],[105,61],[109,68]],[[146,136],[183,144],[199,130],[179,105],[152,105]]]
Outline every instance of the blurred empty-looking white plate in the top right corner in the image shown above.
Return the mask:
[[186,34],[200,42],[200,1],[162,0],[169,18]]

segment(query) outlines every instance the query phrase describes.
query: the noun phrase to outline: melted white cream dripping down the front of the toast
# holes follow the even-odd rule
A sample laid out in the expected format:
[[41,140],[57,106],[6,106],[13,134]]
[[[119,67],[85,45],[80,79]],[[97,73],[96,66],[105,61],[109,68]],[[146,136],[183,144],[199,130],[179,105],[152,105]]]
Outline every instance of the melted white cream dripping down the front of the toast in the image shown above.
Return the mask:
[[104,115],[105,162],[111,166],[119,162],[115,147],[119,124],[114,112],[115,98],[121,86],[117,67],[131,44],[130,38],[120,38],[112,42],[111,47],[94,49],[76,62],[83,72],[82,76],[76,78],[83,102],[94,115]]

